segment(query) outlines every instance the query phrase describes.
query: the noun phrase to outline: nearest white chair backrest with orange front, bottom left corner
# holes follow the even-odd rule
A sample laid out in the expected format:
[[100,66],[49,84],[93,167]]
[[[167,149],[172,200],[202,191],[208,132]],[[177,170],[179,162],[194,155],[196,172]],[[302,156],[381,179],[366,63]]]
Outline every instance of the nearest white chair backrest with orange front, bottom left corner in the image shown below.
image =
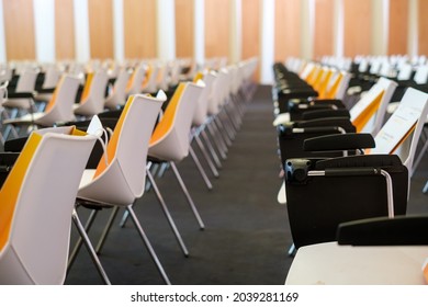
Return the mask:
[[95,137],[33,132],[0,191],[0,284],[61,284],[71,212]]

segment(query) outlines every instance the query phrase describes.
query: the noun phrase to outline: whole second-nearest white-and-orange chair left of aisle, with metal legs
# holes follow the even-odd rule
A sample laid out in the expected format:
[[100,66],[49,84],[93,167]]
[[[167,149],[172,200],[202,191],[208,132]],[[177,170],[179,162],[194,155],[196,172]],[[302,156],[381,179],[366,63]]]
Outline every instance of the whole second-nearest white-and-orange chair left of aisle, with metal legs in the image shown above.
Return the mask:
[[[125,208],[162,278],[169,284],[169,278],[132,207],[135,200],[144,193],[149,138],[165,100],[165,94],[159,98],[143,94],[129,96],[97,169],[87,169],[83,172],[77,204],[89,205],[91,208],[97,206]],[[77,213],[74,220],[86,245],[91,247]],[[94,252],[92,259],[95,260],[95,264],[99,263]],[[103,268],[98,265],[98,270],[102,273],[104,282],[110,283]]]

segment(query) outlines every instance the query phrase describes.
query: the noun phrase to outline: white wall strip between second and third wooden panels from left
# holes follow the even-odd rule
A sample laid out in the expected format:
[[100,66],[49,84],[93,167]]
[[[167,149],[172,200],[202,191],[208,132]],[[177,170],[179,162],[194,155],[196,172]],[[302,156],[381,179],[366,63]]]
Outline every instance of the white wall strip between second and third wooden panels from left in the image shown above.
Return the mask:
[[75,0],[74,4],[76,60],[86,62],[91,58],[88,0]]

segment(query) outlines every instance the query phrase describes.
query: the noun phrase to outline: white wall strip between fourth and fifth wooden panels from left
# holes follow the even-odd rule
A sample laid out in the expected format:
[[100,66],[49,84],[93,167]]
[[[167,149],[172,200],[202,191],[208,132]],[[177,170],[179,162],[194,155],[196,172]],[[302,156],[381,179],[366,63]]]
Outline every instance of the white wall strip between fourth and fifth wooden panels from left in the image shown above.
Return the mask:
[[157,0],[157,57],[176,58],[176,1]]

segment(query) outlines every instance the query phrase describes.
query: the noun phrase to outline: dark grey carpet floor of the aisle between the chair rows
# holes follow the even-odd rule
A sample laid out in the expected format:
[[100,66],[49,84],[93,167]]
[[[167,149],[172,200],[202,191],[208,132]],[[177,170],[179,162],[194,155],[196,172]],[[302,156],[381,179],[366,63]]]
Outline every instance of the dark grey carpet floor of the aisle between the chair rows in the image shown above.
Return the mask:
[[[281,181],[272,120],[271,88],[260,86],[247,104],[243,126],[223,161],[219,178],[211,177],[212,191],[206,189],[190,157],[178,163],[205,230],[199,229],[172,171],[168,170],[157,180],[190,251],[189,258],[181,253],[153,191],[136,202],[136,214],[172,284],[284,283],[292,262],[288,255],[292,240],[286,207],[277,203]],[[428,213],[428,195],[421,193],[428,179],[427,156],[412,181],[409,213]],[[79,209],[82,217],[87,213],[88,209]],[[109,209],[100,212],[90,232],[93,242],[109,214]],[[76,239],[75,229],[72,239]],[[113,226],[100,260],[112,284],[164,284],[131,221],[125,228],[120,228],[117,223]],[[82,248],[66,284],[101,283]]]

